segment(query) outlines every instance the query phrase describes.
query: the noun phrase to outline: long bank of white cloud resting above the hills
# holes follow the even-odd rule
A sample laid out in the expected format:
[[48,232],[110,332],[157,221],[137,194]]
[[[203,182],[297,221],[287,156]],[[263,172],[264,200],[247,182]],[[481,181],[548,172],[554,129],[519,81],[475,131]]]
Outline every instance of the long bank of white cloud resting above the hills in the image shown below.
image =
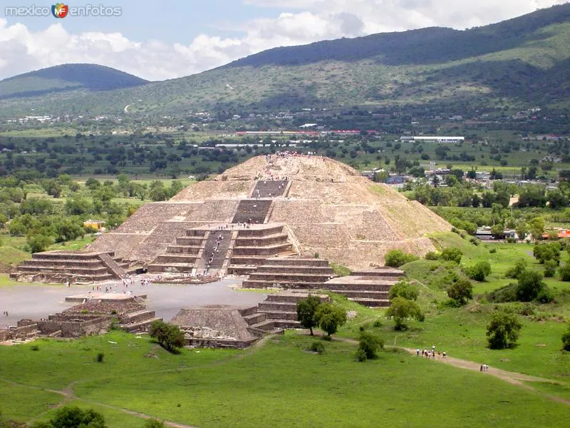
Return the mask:
[[0,78],[62,63],[99,63],[150,80],[187,76],[276,46],[425,26],[464,29],[566,0],[247,0],[283,10],[243,24],[239,37],[200,34],[188,45],[131,41],[120,33],[43,31],[0,19]]

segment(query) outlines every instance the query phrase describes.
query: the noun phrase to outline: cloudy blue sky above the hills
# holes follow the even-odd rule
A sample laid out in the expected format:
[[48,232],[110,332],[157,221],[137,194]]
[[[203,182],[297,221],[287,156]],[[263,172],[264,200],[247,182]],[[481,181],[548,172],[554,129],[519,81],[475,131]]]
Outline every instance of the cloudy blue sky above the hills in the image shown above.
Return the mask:
[[426,26],[465,29],[567,0],[80,0],[121,16],[6,16],[0,6],[0,79],[62,63],[99,63],[149,80],[199,73],[276,46]]

